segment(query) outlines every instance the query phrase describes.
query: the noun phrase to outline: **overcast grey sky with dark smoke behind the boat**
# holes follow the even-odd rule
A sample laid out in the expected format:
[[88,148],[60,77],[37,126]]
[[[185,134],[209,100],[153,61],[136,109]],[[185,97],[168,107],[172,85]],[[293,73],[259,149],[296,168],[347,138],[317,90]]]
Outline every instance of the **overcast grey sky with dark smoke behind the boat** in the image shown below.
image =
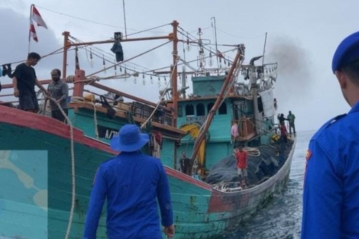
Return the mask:
[[[31,4],[36,5],[48,26],[48,30],[36,27],[39,42],[31,41],[31,51],[41,55],[55,51],[63,45],[61,33],[65,30],[83,41],[106,40],[113,37],[114,32],[125,32],[122,0],[62,0],[61,4],[53,0],[1,0],[0,64],[20,61],[26,57]],[[355,17],[358,6],[359,2],[354,0],[182,0],[180,2],[125,0],[128,34],[177,20],[180,27],[195,37],[198,37],[197,29],[200,27],[203,29],[201,37],[214,43],[211,17],[215,17],[218,44],[245,44],[246,62],[262,54],[264,36],[267,32],[265,63],[278,62],[278,78],[275,84],[278,113],[286,115],[291,110],[296,116],[297,130],[318,129],[327,120],[350,109],[342,97],[339,83],[331,72],[331,61],[341,40],[358,31]],[[74,19],[66,15],[107,25]],[[171,26],[166,25],[131,37],[167,35],[171,31]],[[179,37],[181,39],[182,35]],[[123,43],[125,59],[165,42],[165,40],[157,40]],[[99,52],[93,48],[100,56],[103,53],[106,59],[114,61],[115,57],[110,52],[111,44],[96,45],[96,47],[110,53]],[[182,49],[183,46],[179,44],[181,57],[183,57]],[[219,49],[227,51],[231,48],[220,46]],[[138,72],[146,71],[146,68],[169,67],[172,62],[171,52],[172,44],[166,44],[158,51],[131,61],[139,66],[129,63],[126,67]],[[197,53],[198,48],[192,46],[190,52],[186,51],[186,60],[196,59]],[[231,51],[226,56],[234,57],[235,53]],[[74,51],[70,51],[67,75],[74,74],[74,58]],[[79,49],[79,59],[80,67],[86,74],[103,68],[103,60],[94,56],[91,64],[89,51],[84,49]],[[107,66],[109,66],[108,62],[106,62]],[[35,67],[37,77],[40,80],[49,79],[53,68],[62,70],[62,54],[42,59]],[[114,73],[115,71],[111,69],[100,76],[111,76]],[[117,73],[120,73],[119,69]],[[7,77],[0,77],[0,81],[2,84],[10,83]],[[166,81],[161,77],[160,87],[163,88],[167,82],[168,77]],[[140,74],[136,79],[131,77],[126,80],[106,80],[101,83],[153,102],[159,99],[158,77],[153,77],[151,82],[149,76],[143,78]],[[187,84],[190,83],[188,79]],[[1,94],[11,93],[10,90],[1,92]]]

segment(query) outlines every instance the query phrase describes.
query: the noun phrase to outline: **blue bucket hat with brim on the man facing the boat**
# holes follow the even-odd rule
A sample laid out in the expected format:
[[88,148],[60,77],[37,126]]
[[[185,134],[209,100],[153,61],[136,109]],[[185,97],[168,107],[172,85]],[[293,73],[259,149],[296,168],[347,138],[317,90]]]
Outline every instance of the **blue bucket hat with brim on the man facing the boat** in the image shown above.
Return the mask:
[[117,136],[112,137],[110,146],[115,151],[133,152],[144,147],[148,141],[148,134],[141,134],[137,125],[126,124]]

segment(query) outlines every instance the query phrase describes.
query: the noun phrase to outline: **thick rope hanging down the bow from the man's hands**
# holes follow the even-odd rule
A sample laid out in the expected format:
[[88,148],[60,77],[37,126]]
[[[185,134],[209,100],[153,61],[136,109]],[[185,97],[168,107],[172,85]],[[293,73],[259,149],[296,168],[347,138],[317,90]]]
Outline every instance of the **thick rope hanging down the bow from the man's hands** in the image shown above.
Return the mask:
[[52,100],[53,102],[55,102],[55,104],[57,105],[57,107],[59,107],[59,110],[61,111],[62,115],[64,115],[67,124],[70,126],[70,138],[71,138],[71,178],[72,178],[72,199],[71,199],[71,210],[70,210],[70,216],[69,216],[69,223],[67,224],[67,230],[66,230],[66,235],[65,235],[65,239],[69,238],[70,235],[70,231],[71,231],[71,225],[72,225],[72,221],[73,221],[73,217],[74,217],[74,209],[75,209],[75,154],[74,154],[74,129],[73,129],[73,125],[70,121],[70,119],[67,117],[67,115],[65,114],[64,110],[62,110],[59,102],[57,102],[56,99],[51,98],[50,100]]

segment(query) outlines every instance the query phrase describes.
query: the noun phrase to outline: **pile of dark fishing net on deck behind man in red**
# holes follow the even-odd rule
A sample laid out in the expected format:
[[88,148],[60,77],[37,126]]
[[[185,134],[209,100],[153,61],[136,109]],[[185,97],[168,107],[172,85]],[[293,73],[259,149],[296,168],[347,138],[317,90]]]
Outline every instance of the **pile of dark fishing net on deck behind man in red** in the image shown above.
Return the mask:
[[[275,175],[288,158],[291,148],[292,143],[276,144],[275,146],[260,145],[257,147],[258,150],[248,152],[248,185],[256,185]],[[257,153],[258,151],[259,153]],[[210,169],[205,182],[211,185],[238,182],[236,165],[237,159],[234,154],[222,159]]]

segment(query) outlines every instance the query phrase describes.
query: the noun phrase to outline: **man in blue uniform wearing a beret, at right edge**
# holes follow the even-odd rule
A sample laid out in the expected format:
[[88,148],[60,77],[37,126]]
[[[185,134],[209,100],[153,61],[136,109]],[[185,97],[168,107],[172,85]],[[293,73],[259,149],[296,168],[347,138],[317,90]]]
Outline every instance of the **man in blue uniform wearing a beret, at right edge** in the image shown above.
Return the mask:
[[332,71],[351,110],[309,143],[302,239],[359,238],[359,32],[339,44]]

